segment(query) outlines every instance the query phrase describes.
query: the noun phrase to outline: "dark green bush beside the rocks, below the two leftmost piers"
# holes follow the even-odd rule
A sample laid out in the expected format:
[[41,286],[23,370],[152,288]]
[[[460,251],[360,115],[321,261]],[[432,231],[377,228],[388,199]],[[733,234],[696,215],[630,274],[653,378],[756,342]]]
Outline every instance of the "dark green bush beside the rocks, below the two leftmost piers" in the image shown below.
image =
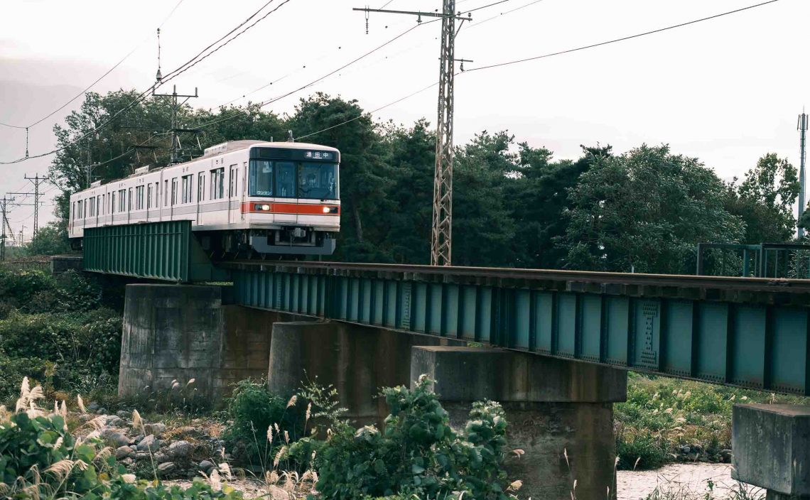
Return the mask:
[[[280,443],[285,441],[278,434],[283,435],[286,431],[290,440],[301,437],[301,411],[288,402],[271,393],[262,380],[248,379],[237,383],[228,400],[229,423],[223,434],[236,460],[267,468]],[[277,439],[270,442],[268,429],[275,425],[279,426],[279,430],[273,430]]]

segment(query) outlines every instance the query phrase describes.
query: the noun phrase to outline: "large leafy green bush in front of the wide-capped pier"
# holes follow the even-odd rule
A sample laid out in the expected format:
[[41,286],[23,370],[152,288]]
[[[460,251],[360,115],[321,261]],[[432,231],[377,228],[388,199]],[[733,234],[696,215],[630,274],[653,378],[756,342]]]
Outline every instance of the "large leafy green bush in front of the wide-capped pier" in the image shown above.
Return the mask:
[[391,413],[382,433],[373,426],[333,429],[315,458],[317,488],[325,498],[456,498],[462,492],[467,498],[507,498],[501,468],[506,422],[500,405],[476,403],[470,422],[457,433],[429,390],[431,383],[423,377],[412,391],[383,390]]

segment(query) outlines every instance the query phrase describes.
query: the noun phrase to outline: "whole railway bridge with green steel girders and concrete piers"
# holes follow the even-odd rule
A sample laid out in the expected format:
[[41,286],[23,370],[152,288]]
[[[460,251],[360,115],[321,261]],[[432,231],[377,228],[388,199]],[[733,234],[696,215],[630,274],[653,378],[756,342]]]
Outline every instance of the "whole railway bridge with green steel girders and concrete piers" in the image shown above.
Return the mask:
[[[365,424],[387,413],[378,388],[428,374],[452,422],[504,405],[527,497],[569,498],[574,479],[578,498],[615,494],[629,369],[810,396],[810,280],[212,262],[184,222],[98,228],[84,247],[87,271],[147,281],[126,290],[122,395],[318,377]],[[740,405],[733,434],[740,480],[808,498],[810,409]]]

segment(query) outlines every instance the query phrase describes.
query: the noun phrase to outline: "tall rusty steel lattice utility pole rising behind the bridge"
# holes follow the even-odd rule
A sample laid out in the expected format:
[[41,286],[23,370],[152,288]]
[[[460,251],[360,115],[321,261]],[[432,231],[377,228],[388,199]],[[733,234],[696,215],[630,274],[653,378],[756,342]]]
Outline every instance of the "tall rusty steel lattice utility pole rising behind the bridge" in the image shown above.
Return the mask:
[[[455,58],[455,37],[458,31],[455,21],[461,23],[471,20],[461,17],[455,11],[455,0],[442,0],[441,14],[435,12],[414,11],[384,11],[382,9],[355,8],[354,11],[364,11],[366,15],[366,34],[369,32],[369,12],[383,12],[390,14],[416,15],[417,23],[422,22],[422,16],[441,18],[441,48],[439,53],[439,97],[438,119],[436,123],[436,167],[433,172],[433,222],[430,235],[430,265],[451,265],[451,251],[453,248],[453,88],[455,63],[461,61],[462,70],[464,62],[472,62]],[[461,23],[458,29],[461,29]]]

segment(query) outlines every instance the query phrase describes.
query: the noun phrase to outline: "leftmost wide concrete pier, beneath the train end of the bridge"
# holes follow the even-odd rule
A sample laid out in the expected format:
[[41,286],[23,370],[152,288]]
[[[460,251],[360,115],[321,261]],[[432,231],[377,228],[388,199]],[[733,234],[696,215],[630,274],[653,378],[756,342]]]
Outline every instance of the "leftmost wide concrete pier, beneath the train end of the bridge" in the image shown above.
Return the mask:
[[166,391],[173,380],[219,406],[242,379],[267,373],[271,328],[296,316],[223,305],[221,286],[126,286],[119,396]]

